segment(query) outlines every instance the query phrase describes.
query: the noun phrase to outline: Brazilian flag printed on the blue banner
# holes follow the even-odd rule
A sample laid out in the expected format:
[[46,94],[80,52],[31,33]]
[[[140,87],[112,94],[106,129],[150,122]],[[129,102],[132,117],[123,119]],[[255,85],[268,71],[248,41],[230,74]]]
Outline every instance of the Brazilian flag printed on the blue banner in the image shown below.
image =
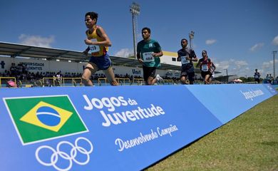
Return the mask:
[[4,101],[24,145],[88,131],[68,95]]

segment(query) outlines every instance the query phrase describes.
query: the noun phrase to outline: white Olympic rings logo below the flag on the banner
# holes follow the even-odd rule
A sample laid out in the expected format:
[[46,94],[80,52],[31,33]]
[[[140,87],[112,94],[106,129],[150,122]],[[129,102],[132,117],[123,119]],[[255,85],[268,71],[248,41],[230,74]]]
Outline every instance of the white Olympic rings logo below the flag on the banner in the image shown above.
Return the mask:
[[[88,144],[90,145],[90,149],[86,150],[84,147],[79,146],[78,142],[80,140],[85,140],[86,142],[88,142]],[[71,151],[70,154],[62,151],[61,150],[61,145],[70,145],[72,147],[71,150],[70,150]],[[44,162],[39,157],[39,152],[43,149],[51,150],[51,152],[53,152],[51,157],[50,157],[50,162]],[[83,155],[86,155],[86,158],[87,158],[86,161],[81,162],[81,161],[76,160],[76,155],[77,155],[78,152],[81,152]],[[57,147],[56,147],[56,150],[53,149],[53,147],[50,147],[48,145],[43,145],[41,147],[38,147],[38,149],[36,150],[36,160],[38,160],[38,162],[40,162],[41,165],[53,166],[56,170],[59,170],[59,171],[67,171],[67,170],[71,169],[71,167],[73,166],[73,162],[76,162],[78,165],[88,164],[88,162],[90,161],[91,152],[93,152],[93,145],[92,145],[91,141],[88,140],[87,138],[80,137],[80,138],[76,139],[76,141],[74,142],[74,145],[71,142],[68,142],[68,141],[59,142]],[[58,162],[59,157],[63,158],[64,160],[68,160],[68,162],[69,162],[68,167],[61,168],[61,167],[58,167],[56,165],[57,162]]]

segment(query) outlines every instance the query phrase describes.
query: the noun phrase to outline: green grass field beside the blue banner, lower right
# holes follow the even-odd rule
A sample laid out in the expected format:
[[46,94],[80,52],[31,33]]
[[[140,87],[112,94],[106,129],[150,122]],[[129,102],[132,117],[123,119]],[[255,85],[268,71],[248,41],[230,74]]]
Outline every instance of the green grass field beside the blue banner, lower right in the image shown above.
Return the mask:
[[278,170],[278,95],[146,170]]

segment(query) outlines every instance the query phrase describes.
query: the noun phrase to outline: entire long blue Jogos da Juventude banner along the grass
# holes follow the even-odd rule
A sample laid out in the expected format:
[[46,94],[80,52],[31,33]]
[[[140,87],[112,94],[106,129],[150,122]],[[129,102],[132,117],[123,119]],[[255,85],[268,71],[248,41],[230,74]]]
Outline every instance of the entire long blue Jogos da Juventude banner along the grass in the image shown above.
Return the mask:
[[[1,89],[0,167],[142,170],[276,95],[271,88],[225,85]],[[223,113],[215,109],[225,108],[227,103],[233,105],[227,109],[238,109]]]

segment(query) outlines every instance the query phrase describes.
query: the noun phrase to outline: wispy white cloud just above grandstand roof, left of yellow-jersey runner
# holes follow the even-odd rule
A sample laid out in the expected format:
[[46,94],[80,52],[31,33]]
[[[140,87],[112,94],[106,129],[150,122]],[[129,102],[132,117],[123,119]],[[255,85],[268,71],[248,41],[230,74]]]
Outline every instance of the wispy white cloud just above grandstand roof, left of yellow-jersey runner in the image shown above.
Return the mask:
[[40,46],[45,48],[51,48],[51,43],[55,41],[54,36],[41,37],[41,36],[30,36],[26,34],[21,34],[19,36],[19,41],[22,44]]

